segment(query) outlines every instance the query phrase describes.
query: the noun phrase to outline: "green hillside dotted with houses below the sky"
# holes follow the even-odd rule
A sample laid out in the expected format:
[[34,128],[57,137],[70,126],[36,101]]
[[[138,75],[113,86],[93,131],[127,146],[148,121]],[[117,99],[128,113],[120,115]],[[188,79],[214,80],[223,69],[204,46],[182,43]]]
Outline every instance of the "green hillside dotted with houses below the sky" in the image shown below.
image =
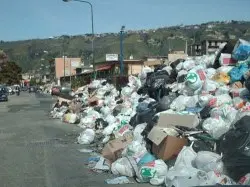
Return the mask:
[[[147,55],[167,55],[169,50],[184,50],[188,44],[203,39],[238,39],[250,40],[250,22],[209,22],[201,25],[175,26],[156,30],[127,31],[124,41],[124,55],[128,58],[143,58]],[[119,53],[119,35],[106,33],[96,35],[96,62],[105,59],[106,53]],[[17,62],[24,72],[37,69],[48,59],[63,55],[81,56],[88,62],[91,54],[90,35],[60,36],[52,39],[33,39],[25,41],[0,42],[10,60]],[[44,53],[48,51],[49,53]],[[42,62],[42,60],[44,62]]]

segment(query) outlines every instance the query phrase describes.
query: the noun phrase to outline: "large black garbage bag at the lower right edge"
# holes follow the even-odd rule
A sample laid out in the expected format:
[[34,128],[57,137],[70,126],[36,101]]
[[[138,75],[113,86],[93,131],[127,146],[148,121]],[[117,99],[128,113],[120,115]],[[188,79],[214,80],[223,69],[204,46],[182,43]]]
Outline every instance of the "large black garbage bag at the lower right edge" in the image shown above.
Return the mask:
[[250,116],[242,117],[217,143],[217,152],[223,153],[228,175],[236,181],[250,173],[249,121]]

